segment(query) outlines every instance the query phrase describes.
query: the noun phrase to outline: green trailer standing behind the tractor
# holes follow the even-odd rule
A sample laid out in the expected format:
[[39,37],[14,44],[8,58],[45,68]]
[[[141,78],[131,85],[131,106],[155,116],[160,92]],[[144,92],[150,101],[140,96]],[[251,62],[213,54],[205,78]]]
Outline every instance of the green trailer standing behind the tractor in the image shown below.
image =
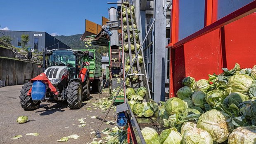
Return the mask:
[[80,49],[81,51],[89,51],[89,56],[83,57],[83,62],[86,63],[86,68],[89,69],[90,82],[92,92],[100,92],[101,83],[100,77],[102,76],[102,63],[100,53],[95,49]]

